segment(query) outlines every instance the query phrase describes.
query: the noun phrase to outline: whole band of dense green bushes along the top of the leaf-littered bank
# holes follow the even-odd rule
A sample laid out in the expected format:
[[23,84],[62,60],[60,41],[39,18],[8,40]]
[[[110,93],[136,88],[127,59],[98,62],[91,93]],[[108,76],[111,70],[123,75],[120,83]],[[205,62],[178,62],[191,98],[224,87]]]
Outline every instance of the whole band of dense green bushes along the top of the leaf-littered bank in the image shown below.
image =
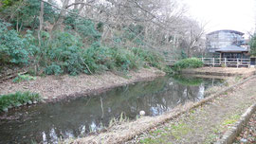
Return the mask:
[[[42,31],[43,41],[41,46],[37,46],[38,42],[31,32],[27,31],[25,37],[21,37],[15,30],[8,30],[8,27],[9,24],[0,22],[1,63],[33,65],[37,68],[32,69],[46,75],[127,72],[140,66],[163,68],[163,58],[154,52],[141,48],[102,46],[98,42],[98,34],[91,41],[94,44],[85,48],[82,38],[72,31],[54,31],[51,37]],[[81,32],[86,33],[86,28]]]

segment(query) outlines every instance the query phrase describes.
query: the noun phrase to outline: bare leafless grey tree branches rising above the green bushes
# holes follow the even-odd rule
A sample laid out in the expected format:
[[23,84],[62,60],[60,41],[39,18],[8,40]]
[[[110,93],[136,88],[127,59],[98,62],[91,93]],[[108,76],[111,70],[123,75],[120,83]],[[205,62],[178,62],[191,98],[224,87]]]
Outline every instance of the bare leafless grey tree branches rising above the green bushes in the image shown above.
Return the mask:
[[[64,0],[68,2],[62,9],[45,0],[41,1],[59,9],[60,17],[69,13],[96,24],[103,23],[101,43],[104,45],[116,45],[115,37],[122,38],[126,31],[135,36],[130,40],[125,39],[125,44],[120,46],[134,46],[140,41],[142,45],[136,46],[158,50],[163,47],[170,51],[182,47],[190,55],[201,45],[204,35],[204,27],[186,17],[185,7],[176,0],[75,0],[72,4]],[[71,8],[79,12],[71,11]],[[135,32],[131,26],[140,26],[142,31]]]

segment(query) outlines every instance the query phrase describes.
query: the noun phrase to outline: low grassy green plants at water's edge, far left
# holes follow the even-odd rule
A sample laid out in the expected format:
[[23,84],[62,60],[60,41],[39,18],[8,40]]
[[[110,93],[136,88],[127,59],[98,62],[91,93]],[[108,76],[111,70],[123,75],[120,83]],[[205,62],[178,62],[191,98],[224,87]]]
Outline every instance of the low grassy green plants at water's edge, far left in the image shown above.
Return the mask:
[[0,96],[0,111],[7,110],[10,107],[19,107],[25,103],[32,101],[40,101],[39,94],[30,92],[16,92],[15,94],[1,95]]

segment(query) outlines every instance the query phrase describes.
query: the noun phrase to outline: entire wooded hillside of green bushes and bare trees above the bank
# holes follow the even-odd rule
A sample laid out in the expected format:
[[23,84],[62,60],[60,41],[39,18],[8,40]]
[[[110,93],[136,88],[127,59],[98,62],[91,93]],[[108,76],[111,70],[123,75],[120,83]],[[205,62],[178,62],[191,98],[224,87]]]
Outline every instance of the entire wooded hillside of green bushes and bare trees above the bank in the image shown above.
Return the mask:
[[0,71],[5,66],[28,67],[34,75],[166,69],[165,57],[202,54],[203,29],[184,14],[174,0],[4,0]]

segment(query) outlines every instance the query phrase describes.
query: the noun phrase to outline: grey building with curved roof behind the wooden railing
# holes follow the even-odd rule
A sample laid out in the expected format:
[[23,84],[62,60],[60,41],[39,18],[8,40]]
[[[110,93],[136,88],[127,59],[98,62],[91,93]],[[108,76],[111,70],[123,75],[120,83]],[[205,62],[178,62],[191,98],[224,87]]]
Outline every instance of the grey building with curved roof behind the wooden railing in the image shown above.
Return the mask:
[[213,57],[229,59],[248,58],[244,33],[235,30],[217,30],[207,34],[207,50]]

